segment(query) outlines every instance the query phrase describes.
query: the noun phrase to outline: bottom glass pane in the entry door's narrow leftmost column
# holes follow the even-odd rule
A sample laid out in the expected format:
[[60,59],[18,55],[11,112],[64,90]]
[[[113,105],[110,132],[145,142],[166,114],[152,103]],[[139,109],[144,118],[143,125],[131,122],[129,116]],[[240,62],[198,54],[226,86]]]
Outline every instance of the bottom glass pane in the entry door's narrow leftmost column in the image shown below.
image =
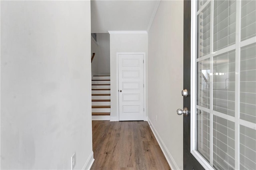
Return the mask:
[[210,113],[197,109],[197,150],[210,161]]

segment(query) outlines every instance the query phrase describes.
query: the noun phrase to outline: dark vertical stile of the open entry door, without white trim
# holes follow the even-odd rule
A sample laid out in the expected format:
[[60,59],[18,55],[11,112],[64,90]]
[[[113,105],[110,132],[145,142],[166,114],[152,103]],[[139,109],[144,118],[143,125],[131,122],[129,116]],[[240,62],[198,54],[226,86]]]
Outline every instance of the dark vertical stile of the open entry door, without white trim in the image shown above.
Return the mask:
[[183,118],[183,168],[184,170],[202,170],[201,164],[190,153],[190,69],[191,69],[191,1],[184,0],[184,63],[183,89],[188,96],[183,99],[183,107],[188,108],[188,116]]

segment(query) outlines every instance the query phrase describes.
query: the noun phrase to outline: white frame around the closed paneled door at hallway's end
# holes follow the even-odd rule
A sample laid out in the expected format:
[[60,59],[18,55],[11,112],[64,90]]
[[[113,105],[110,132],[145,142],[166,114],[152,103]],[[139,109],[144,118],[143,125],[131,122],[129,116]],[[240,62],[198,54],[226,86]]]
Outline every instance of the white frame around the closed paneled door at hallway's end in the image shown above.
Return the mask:
[[118,91],[116,93],[116,111],[117,111],[117,121],[119,120],[119,55],[120,54],[130,54],[130,55],[136,55],[136,54],[142,54],[143,55],[143,83],[144,83],[144,88],[143,88],[143,105],[144,105],[144,121],[147,121],[147,116],[146,116],[146,53],[145,52],[118,52],[116,53],[116,90]]

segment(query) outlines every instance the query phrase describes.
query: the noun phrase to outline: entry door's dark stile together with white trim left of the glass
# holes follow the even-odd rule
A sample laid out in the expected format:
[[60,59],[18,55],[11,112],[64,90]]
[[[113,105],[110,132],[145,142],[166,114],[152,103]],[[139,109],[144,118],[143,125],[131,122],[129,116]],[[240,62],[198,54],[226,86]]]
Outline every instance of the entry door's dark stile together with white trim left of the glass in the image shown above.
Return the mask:
[[[185,14],[185,11],[187,14]],[[196,14],[196,0],[184,1],[183,89],[188,89],[188,97],[183,98],[183,107],[188,107],[188,110],[190,111],[188,117],[183,118],[183,167],[184,169],[194,168],[195,170],[203,168],[213,169],[212,166],[210,166],[210,164],[196,150]],[[190,28],[190,31],[185,32],[185,28],[188,27]],[[184,129],[187,130],[184,131]]]

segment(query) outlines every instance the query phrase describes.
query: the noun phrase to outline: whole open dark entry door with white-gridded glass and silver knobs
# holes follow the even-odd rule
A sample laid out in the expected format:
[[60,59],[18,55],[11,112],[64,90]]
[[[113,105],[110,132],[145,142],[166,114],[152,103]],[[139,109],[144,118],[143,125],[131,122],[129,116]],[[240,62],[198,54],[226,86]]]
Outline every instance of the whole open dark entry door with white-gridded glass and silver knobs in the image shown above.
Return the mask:
[[186,170],[256,169],[255,13],[255,0],[184,0]]

